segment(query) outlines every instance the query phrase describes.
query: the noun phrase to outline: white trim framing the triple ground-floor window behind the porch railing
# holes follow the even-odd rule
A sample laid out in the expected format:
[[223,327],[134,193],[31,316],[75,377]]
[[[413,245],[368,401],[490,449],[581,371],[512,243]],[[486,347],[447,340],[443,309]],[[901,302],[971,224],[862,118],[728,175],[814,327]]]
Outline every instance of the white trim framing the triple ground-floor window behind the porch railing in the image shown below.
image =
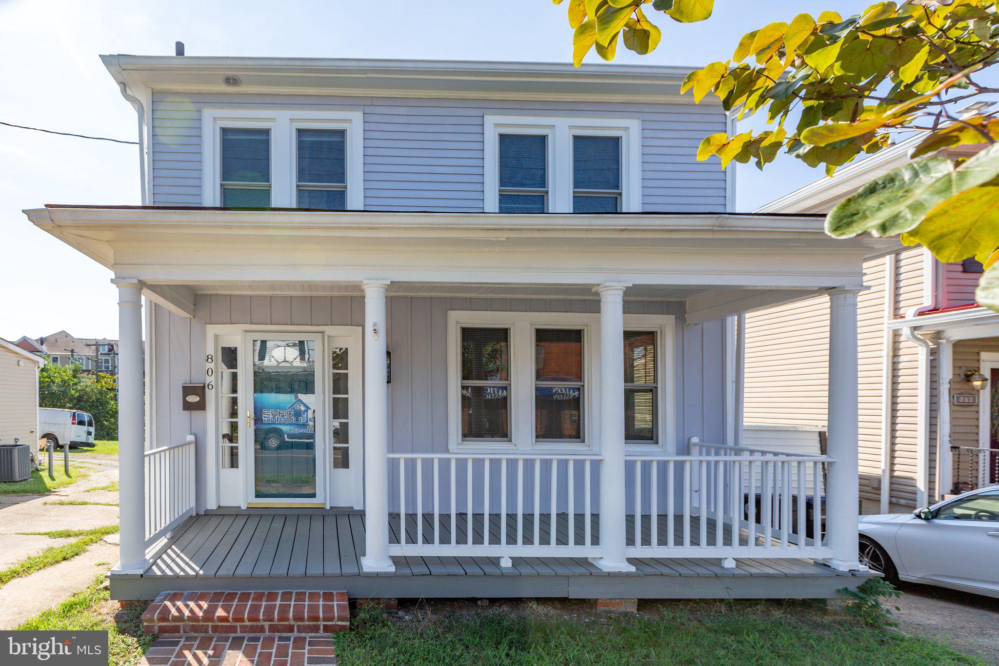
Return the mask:
[[[503,327],[510,330],[510,440],[502,442],[462,440],[462,347],[463,327]],[[578,328],[583,331],[583,440],[581,442],[536,441],[534,437],[534,341],[537,328]],[[625,315],[624,329],[654,331],[658,345],[657,439],[648,444],[627,443],[629,453],[671,454],[675,440],[675,318],[672,315]],[[599,452],[600,316],[587,313],[497,313],[449,311],[448,313],[448,450],[452,453]],[[623,399],[623,386],[621,387]]]

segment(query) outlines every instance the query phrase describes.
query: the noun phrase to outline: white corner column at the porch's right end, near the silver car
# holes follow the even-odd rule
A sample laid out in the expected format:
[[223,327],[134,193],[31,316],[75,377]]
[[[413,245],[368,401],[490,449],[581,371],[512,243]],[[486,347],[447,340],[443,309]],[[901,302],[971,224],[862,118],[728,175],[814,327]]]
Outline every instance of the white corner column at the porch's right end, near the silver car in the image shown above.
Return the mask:
[[828,454],[835,462],[826,474],[826,541],[832,547],[831,566],[859,568],[857,515],[860,496],[857,471],[857,294],[860,290],[829,291],[829,411]]

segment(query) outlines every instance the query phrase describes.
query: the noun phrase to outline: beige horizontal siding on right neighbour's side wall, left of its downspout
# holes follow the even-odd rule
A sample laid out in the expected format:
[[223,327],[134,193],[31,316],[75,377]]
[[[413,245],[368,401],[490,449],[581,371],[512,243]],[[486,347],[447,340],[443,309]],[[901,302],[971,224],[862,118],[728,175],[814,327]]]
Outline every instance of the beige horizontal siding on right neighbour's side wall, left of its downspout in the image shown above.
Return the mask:
[[[864,263],[857,298],[860,494],[880,496],[884,259]],[[829,300],[813,297],[746,315],[743,421],[825,429],[829,399]]]

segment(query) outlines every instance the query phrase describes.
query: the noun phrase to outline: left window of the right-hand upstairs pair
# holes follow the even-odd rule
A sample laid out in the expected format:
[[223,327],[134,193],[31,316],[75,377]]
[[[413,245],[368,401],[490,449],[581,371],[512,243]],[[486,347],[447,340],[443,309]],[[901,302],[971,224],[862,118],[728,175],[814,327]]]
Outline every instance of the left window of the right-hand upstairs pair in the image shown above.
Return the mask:
[[548,199],[548,139],[500,134],[500,213],[544,213]]

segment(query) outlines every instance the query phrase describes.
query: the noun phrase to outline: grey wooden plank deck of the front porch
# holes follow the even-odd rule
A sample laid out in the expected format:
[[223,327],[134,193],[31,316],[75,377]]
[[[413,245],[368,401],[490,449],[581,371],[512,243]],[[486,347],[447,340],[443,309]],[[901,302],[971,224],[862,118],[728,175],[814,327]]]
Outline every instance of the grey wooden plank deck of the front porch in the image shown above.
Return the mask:
[[[434,532],[433,519],[433,514],[424,515],[425,539]],[[629,544],[633,519],[628,516]],[[564,544],[567,520],[558,522],[556,541]],[[474,541],[481,543],[481,516],[473,523]],[[398,543],[398,515],[392,516],[390,527],[391,540]],[[491,542],[499,543],[498,514],[490,527]],[[449,528],[442,520],[442,542],[450,542]],[[466,528],[463,515],[457,524],[460,543],[466,542]],[[528,531],[525,527],[524,533]],[[546,543],[546,516],[540,531]],[[691,524],[692,534],[699,531],[699,525]],[[416,534],[414,518],[407,542],[414,542]],[[708,544],[713,544],[713,524],[707,525],[707,534]],[[507,540],[511,538],[515,530],[508,527]],[[359,512],[213,512],[192,517],[175,530],[142,576],[113,574],[111,593],[115,599],[151,599],[167,590],[267,589],[333,589],[347,590],[351,597],[403,598],[804,598],[832,596],[868,577],[837,573],[810,559],[766,558],[765,552],[758,558],[736,559],[730,569],[714,558],[630,558],[634,572],[610,574],[584,558],[514,557],[512,567],[502,568],[497,557],[407,555],[393,558],[394,573],[375,574],[362,570],[364,552],[365,521]]]

